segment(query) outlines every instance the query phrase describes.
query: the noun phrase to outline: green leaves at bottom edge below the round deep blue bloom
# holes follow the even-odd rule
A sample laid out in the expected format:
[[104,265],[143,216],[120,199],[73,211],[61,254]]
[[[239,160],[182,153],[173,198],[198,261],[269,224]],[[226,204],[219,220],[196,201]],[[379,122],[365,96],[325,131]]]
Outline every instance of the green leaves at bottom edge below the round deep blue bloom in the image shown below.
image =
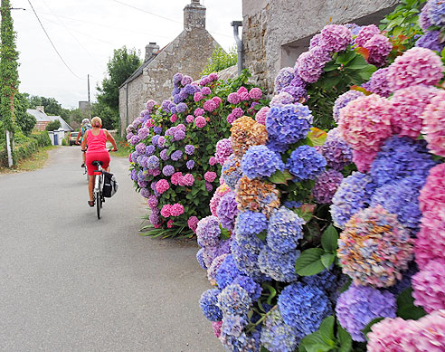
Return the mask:
[[320,328],[303,338],[298,346],[299,352],[348,352],[352,350],[351,336],[340,324],[337,323],[335,327],[333,316],[325,318]]

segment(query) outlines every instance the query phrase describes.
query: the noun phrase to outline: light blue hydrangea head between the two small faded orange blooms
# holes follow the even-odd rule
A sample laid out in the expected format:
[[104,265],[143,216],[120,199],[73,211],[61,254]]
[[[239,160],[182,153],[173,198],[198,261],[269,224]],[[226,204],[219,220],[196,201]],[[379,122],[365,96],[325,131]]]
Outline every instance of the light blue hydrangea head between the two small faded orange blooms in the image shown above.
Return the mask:
[[279,154],[266,146],[250,147],[241,159],[241,170],[252,178],[270,177],[277,170],[283,170],[284,163]]

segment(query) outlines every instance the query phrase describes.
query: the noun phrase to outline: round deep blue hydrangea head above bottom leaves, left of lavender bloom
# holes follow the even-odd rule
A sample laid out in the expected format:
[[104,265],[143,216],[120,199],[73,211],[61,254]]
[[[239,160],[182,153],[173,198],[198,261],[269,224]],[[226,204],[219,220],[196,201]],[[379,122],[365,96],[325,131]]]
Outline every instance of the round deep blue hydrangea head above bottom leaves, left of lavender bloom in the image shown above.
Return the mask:
[[298,338],[316,331],[322,320],[332,314],[325,293],[301,282],[291,283],[281,291],[278,306],[284,322],[298,331]]

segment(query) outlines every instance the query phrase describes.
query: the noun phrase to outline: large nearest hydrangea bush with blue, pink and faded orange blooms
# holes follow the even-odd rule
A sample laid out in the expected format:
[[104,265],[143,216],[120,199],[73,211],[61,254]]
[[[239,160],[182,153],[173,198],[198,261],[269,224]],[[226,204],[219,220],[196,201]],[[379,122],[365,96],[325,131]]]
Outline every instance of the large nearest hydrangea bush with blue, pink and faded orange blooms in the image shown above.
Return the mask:
[[444,67],[385,34],[328,24],[217,147],[197,257],[226,350],[445,349]]

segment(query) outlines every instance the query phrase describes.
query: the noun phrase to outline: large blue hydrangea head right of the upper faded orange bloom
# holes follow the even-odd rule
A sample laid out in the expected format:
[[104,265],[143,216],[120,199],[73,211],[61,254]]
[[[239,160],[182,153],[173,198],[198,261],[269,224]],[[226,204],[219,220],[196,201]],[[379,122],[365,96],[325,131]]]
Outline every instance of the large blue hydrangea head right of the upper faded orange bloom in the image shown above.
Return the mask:
[[269,140],[289,145],[307,138],[312,120],[311,111],[300,103],[274,106],[266,117]]

